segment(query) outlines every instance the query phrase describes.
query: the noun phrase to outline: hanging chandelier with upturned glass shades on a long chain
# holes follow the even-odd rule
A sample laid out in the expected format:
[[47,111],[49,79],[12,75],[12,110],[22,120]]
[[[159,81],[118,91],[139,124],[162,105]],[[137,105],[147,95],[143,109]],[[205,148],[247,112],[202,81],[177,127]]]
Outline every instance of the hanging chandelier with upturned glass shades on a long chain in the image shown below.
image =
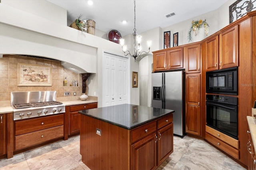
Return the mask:
[[[134,54],[132,55],[130,53],[130,51],[126,51],[127,49],[127,45],[124,45],[124,39],[120,39],[120,44],[122,45],[122,51],[124,52],[124,55],[130,55],[131,57],[134,57],[134,61],[136,61],[136,58],[139,57],[140,55],[142,55],[142,53],[149,53],[150,51],[150,45],[151,45],[151,41],[147,41],[148,42],[148,52],[146,51],[142,51],[141,52],[141,45],[140,45],[140,41],[142,36],[138,36],[136,33],[136,15],[135,15],[135,8],[136,8],[136,2],[134,0],[134,33],[132,33],[133,38],[134,38],[134,44],[133,44],[133,48],[134,48]],[[136,47],[136,41],[138,43],[138,47]]]

